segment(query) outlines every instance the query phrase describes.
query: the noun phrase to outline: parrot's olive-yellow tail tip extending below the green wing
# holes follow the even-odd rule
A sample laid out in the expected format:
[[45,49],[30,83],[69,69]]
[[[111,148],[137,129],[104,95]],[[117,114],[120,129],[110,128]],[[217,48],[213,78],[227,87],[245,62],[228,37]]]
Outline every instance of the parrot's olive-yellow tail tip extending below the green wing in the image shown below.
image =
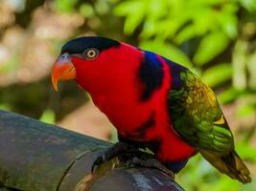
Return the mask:
[[250,172],[236,151],[231,151],[224,157],[220,154],[210,153],[205,150],[201,150],[200,153],[221,173],[226,174],[230,178],[240,180],[243,183],[248,183],[251,181]]

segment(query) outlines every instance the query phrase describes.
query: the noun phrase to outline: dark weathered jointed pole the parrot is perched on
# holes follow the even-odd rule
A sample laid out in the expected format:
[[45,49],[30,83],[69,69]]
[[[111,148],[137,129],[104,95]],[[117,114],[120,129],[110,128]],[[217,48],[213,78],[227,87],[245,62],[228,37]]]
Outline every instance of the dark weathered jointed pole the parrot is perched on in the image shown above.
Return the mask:
[[183,190],[175,180],[150,168],[108,169],[92,177],[92,161],[109,145],[0,111],[0,190]]

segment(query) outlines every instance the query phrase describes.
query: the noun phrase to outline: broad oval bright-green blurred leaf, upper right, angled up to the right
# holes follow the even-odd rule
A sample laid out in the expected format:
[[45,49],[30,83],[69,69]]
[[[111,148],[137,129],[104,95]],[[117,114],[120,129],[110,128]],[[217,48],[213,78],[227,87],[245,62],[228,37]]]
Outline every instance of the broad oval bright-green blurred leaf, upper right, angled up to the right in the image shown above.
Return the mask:
[[224,33],[220,31],[210,32],[201,39],[193,60],[198,65],[203,65],[224,51],[228,44],[229,39]]

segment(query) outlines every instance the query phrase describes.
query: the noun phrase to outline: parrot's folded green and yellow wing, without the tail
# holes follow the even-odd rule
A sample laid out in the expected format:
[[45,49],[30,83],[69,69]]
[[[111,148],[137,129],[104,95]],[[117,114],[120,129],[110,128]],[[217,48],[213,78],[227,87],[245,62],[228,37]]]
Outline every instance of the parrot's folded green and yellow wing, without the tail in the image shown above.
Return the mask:
[[179,74],[182,85],[168,96],[175,131],[190,145],[219,153],[234,148],[233,136],[214,92],[196,74]]

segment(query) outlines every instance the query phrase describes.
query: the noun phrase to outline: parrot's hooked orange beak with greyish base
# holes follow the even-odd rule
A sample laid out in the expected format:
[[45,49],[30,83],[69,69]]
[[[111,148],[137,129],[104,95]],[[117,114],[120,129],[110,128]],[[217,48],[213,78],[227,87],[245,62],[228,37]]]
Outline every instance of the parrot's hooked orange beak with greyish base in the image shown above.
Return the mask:
[[69,80],[76,78],[76,69],[71,62],[69,53],[61,54],[54,63],[52,70],[52,84],[56,91],[58,91],[59,80]]

